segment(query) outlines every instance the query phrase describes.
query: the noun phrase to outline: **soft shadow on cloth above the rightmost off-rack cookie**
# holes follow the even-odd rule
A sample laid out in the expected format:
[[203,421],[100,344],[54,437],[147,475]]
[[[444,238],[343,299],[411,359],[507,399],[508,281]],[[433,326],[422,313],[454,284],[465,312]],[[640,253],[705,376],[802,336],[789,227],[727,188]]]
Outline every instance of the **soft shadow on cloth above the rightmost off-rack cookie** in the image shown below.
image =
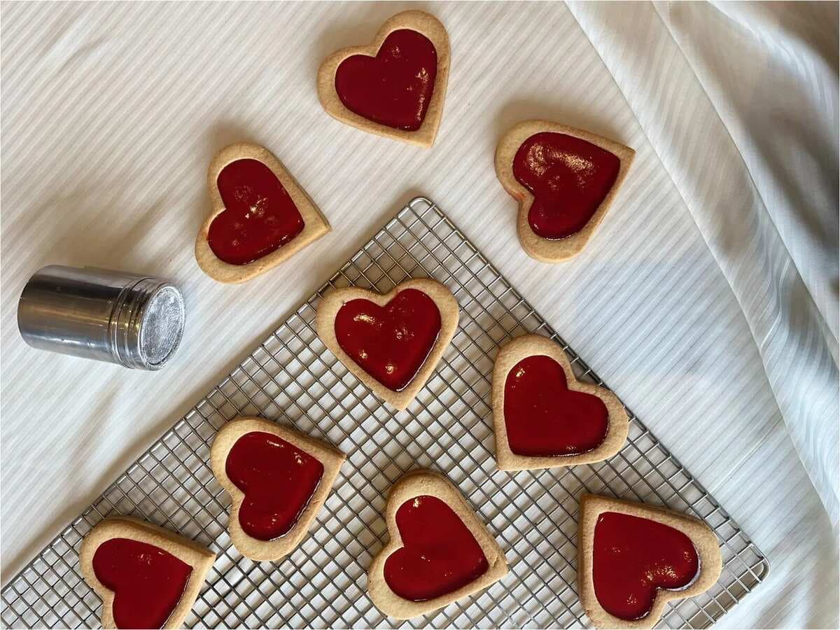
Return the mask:
[[496,134],[496,144],[513,125],[533,118],[585,129],[617,142],[625,140],[621,129],[609,120],[583,112],[569,103],[538,98],[517,98],[503,104],[494,117],[493,132]]

